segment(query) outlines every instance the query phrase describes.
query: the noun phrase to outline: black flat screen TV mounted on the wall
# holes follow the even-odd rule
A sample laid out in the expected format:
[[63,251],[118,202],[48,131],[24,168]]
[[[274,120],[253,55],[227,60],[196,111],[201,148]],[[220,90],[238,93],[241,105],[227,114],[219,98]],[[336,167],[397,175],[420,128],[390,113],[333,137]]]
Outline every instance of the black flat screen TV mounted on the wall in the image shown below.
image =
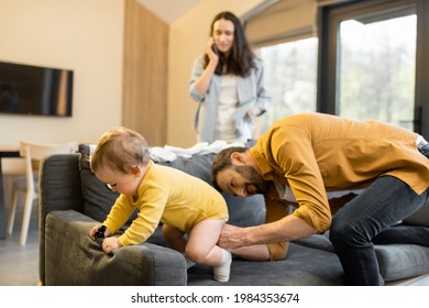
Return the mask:
[[0,62],[0,113],[72,117],[73,70]]

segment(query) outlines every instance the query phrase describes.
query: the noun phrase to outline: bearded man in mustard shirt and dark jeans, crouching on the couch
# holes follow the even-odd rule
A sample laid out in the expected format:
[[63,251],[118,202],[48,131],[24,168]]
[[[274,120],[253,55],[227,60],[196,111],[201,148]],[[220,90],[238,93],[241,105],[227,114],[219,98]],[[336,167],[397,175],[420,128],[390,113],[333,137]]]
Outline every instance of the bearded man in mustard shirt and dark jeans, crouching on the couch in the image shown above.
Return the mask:
[[[215,158],[219,189],[264,194],[266,204],[265,224],[228,224],[219,245],[251,260],[278,260],[289,241],[330,229],[346,283],[382,285],[374,242],[393,237],[429,246],[429,228],[391,228],[429,199],[428,147],[422,136],[383,122],[322,113],[282,119],[251,148]],[[297,209],[287,215],[290,204]]]

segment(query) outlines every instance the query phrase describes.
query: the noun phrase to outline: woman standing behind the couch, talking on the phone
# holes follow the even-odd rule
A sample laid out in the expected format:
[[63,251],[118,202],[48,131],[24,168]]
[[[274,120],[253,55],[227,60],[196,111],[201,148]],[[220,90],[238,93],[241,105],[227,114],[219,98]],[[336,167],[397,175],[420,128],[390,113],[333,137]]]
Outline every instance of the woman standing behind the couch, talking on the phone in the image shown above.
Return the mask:
[[252,139],[254,118],[270,105],[263,77],[262,62],[251,51],[240,20],[231,12],[217,14],[189,84],[190,96],[199,102],[195,118],[199,142]]

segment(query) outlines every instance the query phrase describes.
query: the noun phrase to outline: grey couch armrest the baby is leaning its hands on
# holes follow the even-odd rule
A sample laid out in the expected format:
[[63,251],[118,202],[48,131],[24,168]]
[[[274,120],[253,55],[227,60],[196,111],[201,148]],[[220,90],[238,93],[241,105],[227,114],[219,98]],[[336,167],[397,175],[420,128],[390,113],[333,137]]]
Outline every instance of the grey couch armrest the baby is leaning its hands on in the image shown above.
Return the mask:
[[184,256],[143,243],[105,254],[89,239],[97,223],[80,212],[52,211],[46,217],[45,285],[186,285]]

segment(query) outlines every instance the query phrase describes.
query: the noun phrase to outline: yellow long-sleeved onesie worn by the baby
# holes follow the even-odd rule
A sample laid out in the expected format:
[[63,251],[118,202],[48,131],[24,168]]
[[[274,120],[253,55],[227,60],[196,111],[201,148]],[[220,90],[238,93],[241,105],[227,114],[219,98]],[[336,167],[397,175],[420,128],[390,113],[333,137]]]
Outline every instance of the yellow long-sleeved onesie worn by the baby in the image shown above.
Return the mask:
[[150,161],[139,197],[120,195],[103,224],[117,232],[138,208],[138,218],[119,237],[123,246],[146,241],[160,222],[185,233],[201,220],[228,220],[222,195],[200,178]]

